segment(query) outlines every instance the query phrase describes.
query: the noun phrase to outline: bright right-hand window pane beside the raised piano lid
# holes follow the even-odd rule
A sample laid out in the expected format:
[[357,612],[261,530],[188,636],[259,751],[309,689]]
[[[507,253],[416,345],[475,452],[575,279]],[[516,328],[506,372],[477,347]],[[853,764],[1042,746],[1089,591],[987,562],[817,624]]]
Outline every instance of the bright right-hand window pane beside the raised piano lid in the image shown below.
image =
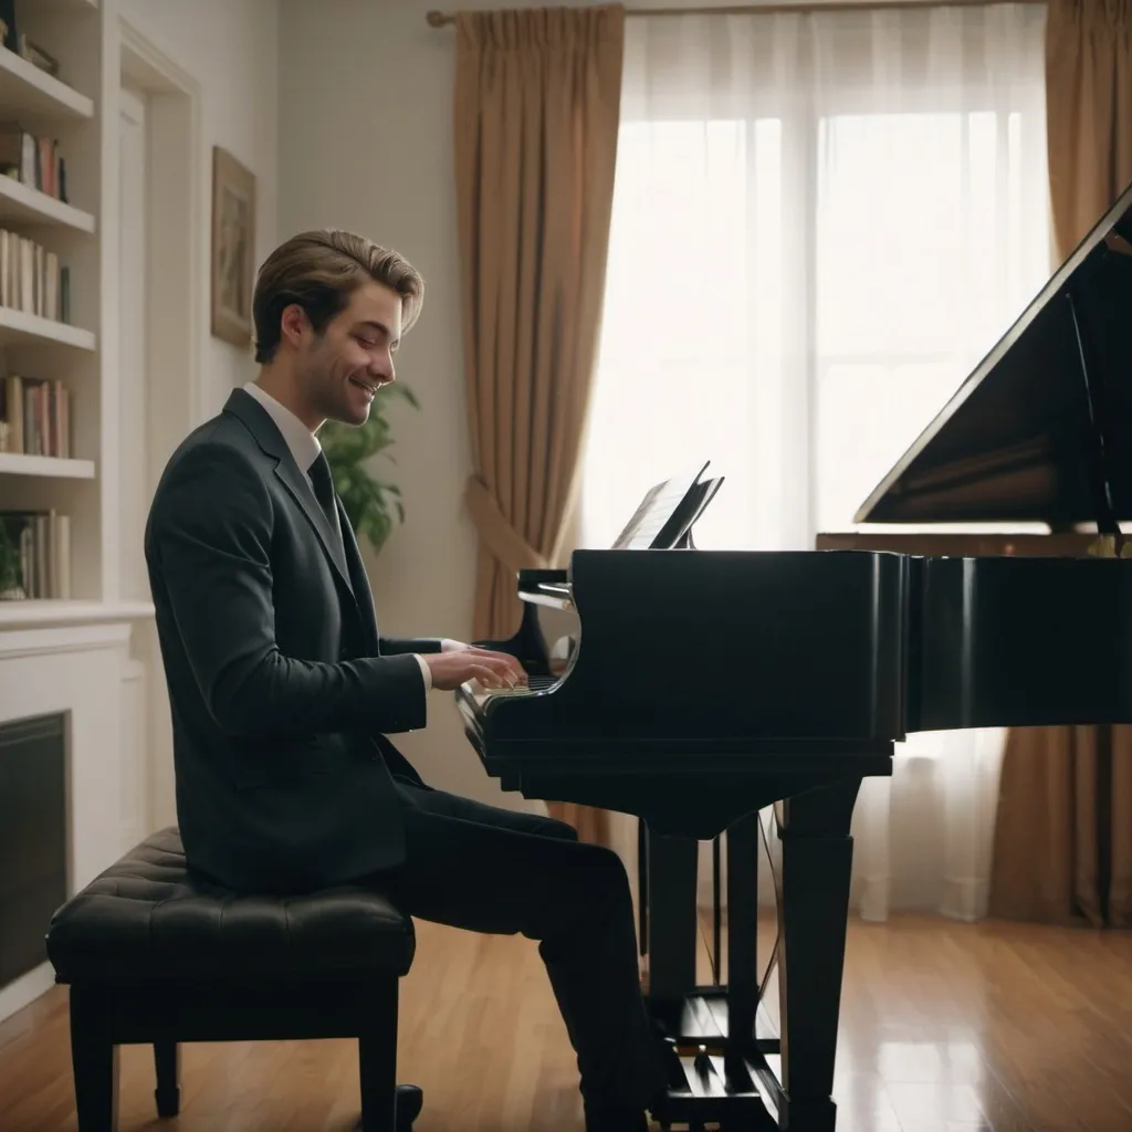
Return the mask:
[[829,530],[851,523],[1049,265],[1018,111],[834,117],[817,146],[813,452]]

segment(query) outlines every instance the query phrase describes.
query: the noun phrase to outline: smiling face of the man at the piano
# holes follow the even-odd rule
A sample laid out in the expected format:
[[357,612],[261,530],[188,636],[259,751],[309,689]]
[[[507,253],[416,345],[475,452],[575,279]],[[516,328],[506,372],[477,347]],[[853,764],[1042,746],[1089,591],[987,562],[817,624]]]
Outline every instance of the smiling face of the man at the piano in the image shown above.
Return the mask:
[[307,327],[299,348],[298,377],[303,397],[319,420],[365,424],[377,389],[395,377],[393,355],[401,343],[401,295],[367,282],[320,337]]

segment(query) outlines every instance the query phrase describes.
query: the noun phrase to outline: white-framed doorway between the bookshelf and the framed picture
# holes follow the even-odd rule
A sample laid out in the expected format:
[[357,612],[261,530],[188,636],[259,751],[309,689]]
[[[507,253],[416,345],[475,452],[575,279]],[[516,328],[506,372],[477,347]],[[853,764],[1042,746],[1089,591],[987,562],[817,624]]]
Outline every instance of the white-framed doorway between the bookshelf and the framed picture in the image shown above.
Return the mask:
[[[126,599],[149,600],[145,523],[169,456],[199,419],[200,87],[122,19],[119,91],[120,559]],[[122,814],[175,821],[172,726],[157,634],[138,623],[123,685]]]

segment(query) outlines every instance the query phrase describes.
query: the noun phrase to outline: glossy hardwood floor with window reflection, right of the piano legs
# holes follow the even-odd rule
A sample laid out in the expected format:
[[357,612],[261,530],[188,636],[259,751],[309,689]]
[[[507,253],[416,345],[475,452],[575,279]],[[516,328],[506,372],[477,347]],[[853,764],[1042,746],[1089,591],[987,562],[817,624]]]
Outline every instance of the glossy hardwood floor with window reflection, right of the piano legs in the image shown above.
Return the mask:
[[[766,909],[760,967],[775,932]],[[1132,934],[850,920],[838,1132],[1132,1132],[1129,972]],[[779,1024],[773,971],[766,988],[761,1036]]]

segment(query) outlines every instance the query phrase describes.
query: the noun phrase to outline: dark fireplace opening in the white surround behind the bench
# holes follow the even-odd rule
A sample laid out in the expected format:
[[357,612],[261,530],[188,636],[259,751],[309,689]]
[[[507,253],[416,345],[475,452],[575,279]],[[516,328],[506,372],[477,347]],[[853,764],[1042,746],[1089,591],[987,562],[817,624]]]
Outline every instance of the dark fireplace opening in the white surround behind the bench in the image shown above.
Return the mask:
[[0,724],[0,987],[46,960],[67,899],[67,717]]

